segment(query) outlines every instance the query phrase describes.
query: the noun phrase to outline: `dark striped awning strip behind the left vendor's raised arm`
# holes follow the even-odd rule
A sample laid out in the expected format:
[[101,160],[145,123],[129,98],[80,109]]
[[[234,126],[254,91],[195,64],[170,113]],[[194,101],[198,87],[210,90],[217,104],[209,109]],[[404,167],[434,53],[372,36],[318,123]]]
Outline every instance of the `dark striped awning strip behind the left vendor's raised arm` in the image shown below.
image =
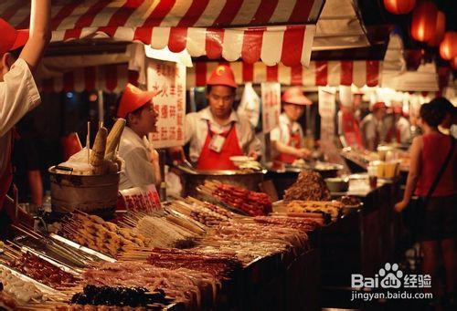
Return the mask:
[[138,85],[138,72],[129,70],[128,64],[80,67],[64,73],[60,77],[37,81],[42,92],[82,92],[103,90],[121,92],[127,83]]

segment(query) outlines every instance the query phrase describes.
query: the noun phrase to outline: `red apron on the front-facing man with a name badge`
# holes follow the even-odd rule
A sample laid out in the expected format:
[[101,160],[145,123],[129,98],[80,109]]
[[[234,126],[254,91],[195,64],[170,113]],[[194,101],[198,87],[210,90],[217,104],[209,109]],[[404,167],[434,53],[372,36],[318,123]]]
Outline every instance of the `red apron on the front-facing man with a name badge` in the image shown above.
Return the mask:
[[230,161],[230,157],[244,155],[243,150],[239,147],[237,129],[232,122],[230,130],[219,134],[225,137],[224,146],[220,152],[209,149],[209,143],[214,135],[214,132],[207,126],[207,139],[201,150],[200,157],[197,161],[197,169],[201,171],[214,170],[237,170],[235,164]]

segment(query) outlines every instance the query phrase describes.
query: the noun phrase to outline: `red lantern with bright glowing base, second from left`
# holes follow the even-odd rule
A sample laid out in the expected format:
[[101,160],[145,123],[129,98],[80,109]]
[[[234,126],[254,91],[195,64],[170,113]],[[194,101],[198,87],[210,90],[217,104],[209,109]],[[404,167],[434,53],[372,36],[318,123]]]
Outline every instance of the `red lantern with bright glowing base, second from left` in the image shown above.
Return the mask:
[[411,36],[420,42],[427,42],[435,36],[438,9],[430,1],[420,2],[412,13]]

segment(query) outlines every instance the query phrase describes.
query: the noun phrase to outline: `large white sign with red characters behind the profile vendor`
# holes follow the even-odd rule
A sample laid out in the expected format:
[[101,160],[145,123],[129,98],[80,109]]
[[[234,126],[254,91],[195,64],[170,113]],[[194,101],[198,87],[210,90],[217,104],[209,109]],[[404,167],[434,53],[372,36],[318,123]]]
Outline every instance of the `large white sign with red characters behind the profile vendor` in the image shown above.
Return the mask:
[[157,131],[150,134],[154,148],[182,146],[186,114],[186,67],[148,59],[147,88],[159,90],[153,99],[158,113]]

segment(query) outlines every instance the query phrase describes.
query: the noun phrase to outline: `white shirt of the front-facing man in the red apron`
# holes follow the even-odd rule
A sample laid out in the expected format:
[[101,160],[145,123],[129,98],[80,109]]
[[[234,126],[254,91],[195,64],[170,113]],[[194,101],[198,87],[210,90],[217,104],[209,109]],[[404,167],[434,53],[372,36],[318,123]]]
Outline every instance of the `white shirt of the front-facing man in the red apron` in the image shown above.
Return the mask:
[[249,154],[250,151],[260,153],[260,140],[256,139],[255,131],[248,119],[239,116],[235,110],[232,110],[228,123],[221,126],[213,119],[213,115],[207,107],[186,115],[185,144],[190,141],[190,161],[197,162],[200,157],[205,140],[207,140],[207,122],[209,122],[211,131],[216,134],[230,130],[231,123],[234,122],[239,147],[244,154]]

